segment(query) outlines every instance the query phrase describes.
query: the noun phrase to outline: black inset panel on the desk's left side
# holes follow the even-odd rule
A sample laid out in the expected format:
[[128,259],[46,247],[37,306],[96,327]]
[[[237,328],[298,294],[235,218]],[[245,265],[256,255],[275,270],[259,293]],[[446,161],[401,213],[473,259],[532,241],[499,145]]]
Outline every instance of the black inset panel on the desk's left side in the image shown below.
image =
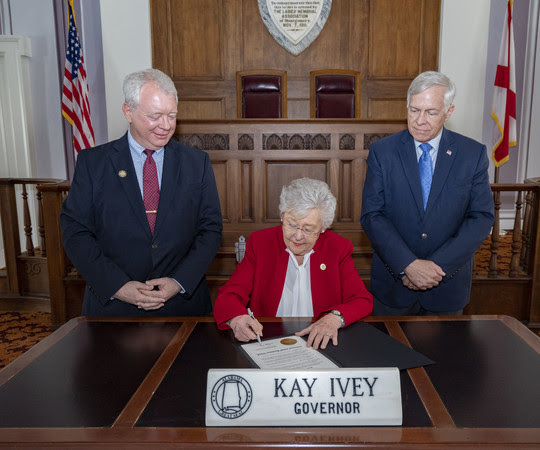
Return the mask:
[[81,322],[0,386],[0,427],[107,427],[181,322]]

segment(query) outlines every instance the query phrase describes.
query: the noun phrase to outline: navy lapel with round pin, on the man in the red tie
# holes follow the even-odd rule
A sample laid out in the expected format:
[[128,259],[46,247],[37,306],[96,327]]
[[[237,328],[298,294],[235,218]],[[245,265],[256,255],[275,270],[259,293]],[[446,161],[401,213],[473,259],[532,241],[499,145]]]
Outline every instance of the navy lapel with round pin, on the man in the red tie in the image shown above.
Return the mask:
[[148,225],[148,219],[146,218],[141,189],[129,151],[127,134],[114,143],[113,150],[110,153],[110,159],[116,174],[125,172],[126,175],[124,177],[118,175],[120,185],[124,189],[124,193],[133,209],[135,217],[143,226],[148,236],[151,237],[152,233],[150,231],[150,225]]

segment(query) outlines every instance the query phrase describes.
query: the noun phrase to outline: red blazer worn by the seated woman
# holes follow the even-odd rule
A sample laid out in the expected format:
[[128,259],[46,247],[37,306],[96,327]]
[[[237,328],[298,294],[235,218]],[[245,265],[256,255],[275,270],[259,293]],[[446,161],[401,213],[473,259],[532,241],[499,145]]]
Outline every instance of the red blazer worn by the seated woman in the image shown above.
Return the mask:
[[[373,297],[354,267],[351,241],[326,231],[313,250],[310,274],[314,317],[337,309],[349,325],[370,314]],[[248,305],[256,317],[275,317],[288,261],[281,226],[251,233],[244,259],[218,291],[214,306],[218,328],[228,328],[225,322],[229,319],[247,314]]]

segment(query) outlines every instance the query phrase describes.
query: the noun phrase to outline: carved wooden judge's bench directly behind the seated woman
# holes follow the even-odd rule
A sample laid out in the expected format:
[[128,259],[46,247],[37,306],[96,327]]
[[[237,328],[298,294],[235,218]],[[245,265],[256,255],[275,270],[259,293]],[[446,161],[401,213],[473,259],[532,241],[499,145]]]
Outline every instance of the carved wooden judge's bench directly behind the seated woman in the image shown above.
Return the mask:
[[360,226],[369,145],[406,128],[405,121],[232,120],[179,122],[174,139],[210,155],[223,214],[223,241],[210,266],[213,289],[236,267],[235,242],[280,223],[279,195],[291,180],[323,180],[337,197],[332,230],[354,244],[361,275],[371,247]]

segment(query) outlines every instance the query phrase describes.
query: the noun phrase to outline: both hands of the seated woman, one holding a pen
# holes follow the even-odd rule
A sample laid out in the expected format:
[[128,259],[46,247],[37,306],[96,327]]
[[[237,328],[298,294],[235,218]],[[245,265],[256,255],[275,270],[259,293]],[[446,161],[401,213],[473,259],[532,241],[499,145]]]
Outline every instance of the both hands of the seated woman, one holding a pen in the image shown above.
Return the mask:
[[[242,342],[248,342],[257,339],[257,335],[262,337],[263,326],[257,319],[252,319],[249,315],[244,314],[233,317],[227,324],[234,332],[234,337]],[[330,339],[332,344],[338,345],[338,330],[341,328],[341,319],[334,314],[326,314],[317,322],[312,323],[309,327],[304,328],[295,333],[296,336],[305,336],[309,334],[307,347],[313,347],[315,350],[319,346],[326,348]]]

